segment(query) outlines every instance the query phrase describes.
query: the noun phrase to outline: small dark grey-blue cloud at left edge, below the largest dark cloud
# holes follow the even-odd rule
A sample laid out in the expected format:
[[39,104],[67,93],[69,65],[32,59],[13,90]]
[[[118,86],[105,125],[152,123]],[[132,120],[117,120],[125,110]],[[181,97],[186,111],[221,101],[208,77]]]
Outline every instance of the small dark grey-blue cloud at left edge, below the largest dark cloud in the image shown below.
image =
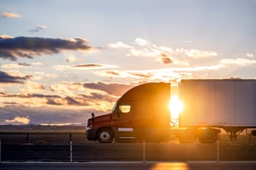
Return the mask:
[[32,76],[11,76],[0,70],[0,84],[23,84],[25,80],[32,78]]

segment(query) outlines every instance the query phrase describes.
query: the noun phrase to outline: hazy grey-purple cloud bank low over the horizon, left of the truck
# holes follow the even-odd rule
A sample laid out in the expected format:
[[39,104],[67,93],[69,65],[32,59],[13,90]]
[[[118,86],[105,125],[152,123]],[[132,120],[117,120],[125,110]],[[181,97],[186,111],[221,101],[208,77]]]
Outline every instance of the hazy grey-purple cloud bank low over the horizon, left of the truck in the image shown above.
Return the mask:
[[[24,105],[6,105],[1,108],[0,124],[25,124],[29,118],[28,124],[49,124],[50,122],[51,124],[81,123],[85,125],[92,112],[99,115],[93,108],[76,107],[74,109],[56,105],[31,108]],[[7,123],[6,120],[12,122]]]

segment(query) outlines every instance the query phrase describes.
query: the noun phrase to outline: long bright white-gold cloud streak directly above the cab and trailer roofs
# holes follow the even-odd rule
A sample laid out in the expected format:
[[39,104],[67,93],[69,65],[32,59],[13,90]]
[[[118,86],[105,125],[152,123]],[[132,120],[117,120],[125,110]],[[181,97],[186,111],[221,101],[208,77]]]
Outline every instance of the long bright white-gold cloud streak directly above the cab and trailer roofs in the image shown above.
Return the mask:
[[173,82],[177,84],[181,78],[206,78],[204,73],[225,68],[223,64],[197,67],[161,68],[156,70],[98,70],[95,74],[104,78],[124,78],[141,82]]

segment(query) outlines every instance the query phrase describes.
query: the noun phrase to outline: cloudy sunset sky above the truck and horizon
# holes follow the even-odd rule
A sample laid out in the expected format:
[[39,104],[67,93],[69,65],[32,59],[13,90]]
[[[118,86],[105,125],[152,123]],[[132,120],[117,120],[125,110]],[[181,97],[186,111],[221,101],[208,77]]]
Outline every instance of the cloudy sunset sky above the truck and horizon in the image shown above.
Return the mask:
[[0,124],[84,125],[148,82],[255,79],[255,16],[254,0],[1,0]]

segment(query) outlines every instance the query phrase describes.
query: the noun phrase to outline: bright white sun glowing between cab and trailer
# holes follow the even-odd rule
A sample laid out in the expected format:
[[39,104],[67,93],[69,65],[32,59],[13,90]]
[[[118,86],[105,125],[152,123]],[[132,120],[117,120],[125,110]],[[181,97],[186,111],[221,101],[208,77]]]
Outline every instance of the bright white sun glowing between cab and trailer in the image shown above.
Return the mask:
[[183,102],[180,101],[179,97],[172,96],[169,102],[169,110],[171,112],[171,118],[179,118],[180,112],[183,111]]

